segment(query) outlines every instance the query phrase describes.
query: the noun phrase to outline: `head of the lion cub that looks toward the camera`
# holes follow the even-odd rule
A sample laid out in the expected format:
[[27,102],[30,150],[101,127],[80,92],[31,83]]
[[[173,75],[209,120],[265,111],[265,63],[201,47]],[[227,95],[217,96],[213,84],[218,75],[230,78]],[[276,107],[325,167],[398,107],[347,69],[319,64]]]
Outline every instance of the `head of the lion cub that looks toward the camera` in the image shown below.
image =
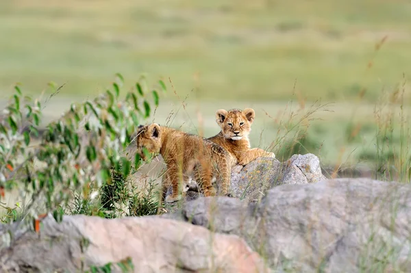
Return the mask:
[[240,109],[229,111],[219,109],[216,112],[216,122],[221,127],[224,138],[242,140],[242,138],[248,138],[255,116],[256,112],[251,108],[242,111]]

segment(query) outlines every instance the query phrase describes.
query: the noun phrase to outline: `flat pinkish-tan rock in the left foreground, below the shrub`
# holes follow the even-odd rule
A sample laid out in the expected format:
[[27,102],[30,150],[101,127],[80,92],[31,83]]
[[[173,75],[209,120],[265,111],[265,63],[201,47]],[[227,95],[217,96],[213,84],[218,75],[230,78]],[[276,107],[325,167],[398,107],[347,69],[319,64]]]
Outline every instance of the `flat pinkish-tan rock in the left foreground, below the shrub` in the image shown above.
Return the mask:
[[[18,239],[7,243],[0,226],[1,272],[79,272],[90,266],[132,259],[134,272],[268,272],[261,257],[236,235],[213,234],[202,226],[162,219],[103,219],[49,216],[40,235],[16,230]],[[5,235],[4,235],[5,234]]]

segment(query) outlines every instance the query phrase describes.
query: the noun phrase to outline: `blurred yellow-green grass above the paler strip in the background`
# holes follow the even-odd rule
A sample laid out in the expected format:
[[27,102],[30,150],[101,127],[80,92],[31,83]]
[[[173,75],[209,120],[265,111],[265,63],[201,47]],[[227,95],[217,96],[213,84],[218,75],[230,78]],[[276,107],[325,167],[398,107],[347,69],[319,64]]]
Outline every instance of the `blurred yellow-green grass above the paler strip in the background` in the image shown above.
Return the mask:
[[[171,77],[203,101],[375,102],[411,55],[408,1],[1,1],[1,94],[21,81],[40,92],[97,94],[113,71]],[[375,43],[388,36],[373,59]],[[195,75],[199,73],[198,83]]]

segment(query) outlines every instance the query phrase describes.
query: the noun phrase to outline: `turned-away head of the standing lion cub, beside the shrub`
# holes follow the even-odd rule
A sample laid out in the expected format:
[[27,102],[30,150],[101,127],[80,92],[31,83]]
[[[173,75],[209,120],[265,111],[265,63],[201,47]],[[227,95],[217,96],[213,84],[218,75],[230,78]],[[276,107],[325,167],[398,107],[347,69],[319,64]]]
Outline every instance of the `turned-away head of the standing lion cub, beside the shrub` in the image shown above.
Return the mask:
[[136,134],[137,153],[142,160],[146,160],[142,148],[146,148],[151,154],[160,153],[161,148],[161,128],[157,123],[151,125],[140,125]]

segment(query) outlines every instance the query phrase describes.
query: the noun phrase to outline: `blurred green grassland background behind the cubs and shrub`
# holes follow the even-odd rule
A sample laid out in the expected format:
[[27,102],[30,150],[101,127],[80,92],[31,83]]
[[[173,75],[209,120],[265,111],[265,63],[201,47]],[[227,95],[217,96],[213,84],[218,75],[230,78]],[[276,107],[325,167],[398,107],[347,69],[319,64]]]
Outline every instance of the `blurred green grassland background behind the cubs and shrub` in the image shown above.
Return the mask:
[[[49,81],[66,83],[46,120],[103,92],[114,73],[130,88],[147,73],[169,90],[155,122],[173,116],[169,125],[209,137],[216,109],[253,107],[253,147],[286,159],[285,140],[303,135],[293,152],[338,165],[375,159],[384,92],[405,88],[410,113],[408,0],[2,0],[0,36],[3,104],[16,82],[44,97]],[[319,100],[332,104],[303,118]],[[396,128],[401,144],[409,135]]]

